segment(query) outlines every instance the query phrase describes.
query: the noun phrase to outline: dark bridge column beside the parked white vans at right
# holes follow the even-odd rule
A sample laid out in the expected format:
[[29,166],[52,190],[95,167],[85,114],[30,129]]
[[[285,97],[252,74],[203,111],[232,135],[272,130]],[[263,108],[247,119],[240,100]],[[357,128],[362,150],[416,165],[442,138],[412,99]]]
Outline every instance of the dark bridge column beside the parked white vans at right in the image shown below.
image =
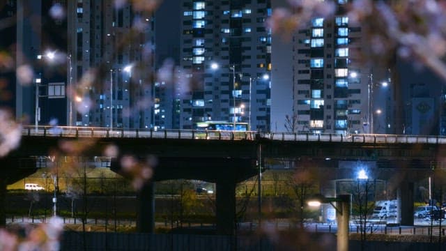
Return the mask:
[[401,211],[401,225],[413,226],[413,182],[402,181],[397,190],[398,210]]

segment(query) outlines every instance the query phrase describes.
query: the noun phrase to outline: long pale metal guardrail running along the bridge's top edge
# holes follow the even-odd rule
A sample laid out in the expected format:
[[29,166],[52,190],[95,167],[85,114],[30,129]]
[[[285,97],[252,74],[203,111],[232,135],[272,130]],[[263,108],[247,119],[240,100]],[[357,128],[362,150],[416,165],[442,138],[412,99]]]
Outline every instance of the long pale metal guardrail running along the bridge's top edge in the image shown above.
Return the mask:
[[296,142],[356,142],[373,144],[446,144],[443,136],[419,135],[372,135],[372,134],[299,134],[295,132],[255,131],[234,132],[220,130],[153,130],[122,128],[69,127],[69,126],[24,126],[22,135],[41,137],[125,137],[151,139],[222,139],[222,140],[253,140],[256,137],[278,141]]

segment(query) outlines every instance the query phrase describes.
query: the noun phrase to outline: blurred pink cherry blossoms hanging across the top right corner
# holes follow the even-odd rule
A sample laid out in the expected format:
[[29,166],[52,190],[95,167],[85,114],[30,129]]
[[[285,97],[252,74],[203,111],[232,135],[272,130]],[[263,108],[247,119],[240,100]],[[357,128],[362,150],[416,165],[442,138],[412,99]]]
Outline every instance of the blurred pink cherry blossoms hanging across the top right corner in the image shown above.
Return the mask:
[[[275,8],[267,21],[272,32],[291,38],[306,29],[313,17],[334,15],[332,1],[290,0],[289,8]],[[353,26],[361,26],[364,42],[358,56],[362,61],[389,65],[394,56],[410,59],[431,68],[446,79],[446,3],[419,1],[349,1],[344,15]]]

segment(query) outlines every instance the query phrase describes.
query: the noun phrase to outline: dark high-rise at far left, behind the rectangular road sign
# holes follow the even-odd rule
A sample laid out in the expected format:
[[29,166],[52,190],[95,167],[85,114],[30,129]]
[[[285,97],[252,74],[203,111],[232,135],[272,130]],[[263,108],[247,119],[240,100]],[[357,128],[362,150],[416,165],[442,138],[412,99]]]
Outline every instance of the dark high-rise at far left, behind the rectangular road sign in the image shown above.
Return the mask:
[[52,17],[54,8],[63,10],[65,5],[65,1],[20,0],[0,6],[0,54],[6,63],[0,70],[0,106],[8,107],[24,124],[66,121],[64,88],[58,95],[54,92],[55,86],[63,86],[65,76],[41,60],[45,47],[66,50],[66,22]]

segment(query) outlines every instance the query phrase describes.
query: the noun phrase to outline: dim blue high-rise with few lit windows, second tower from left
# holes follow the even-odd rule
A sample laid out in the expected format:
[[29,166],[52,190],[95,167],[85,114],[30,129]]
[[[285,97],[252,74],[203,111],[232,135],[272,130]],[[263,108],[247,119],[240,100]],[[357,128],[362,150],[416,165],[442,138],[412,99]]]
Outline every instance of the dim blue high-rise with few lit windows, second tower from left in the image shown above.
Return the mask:
[[[83,94],[68,100],[67,124],[153,128],[153,13],[104,0],[68,1],[67,10],[66,79]],[[84,84],[91,70],[95,82]]]

